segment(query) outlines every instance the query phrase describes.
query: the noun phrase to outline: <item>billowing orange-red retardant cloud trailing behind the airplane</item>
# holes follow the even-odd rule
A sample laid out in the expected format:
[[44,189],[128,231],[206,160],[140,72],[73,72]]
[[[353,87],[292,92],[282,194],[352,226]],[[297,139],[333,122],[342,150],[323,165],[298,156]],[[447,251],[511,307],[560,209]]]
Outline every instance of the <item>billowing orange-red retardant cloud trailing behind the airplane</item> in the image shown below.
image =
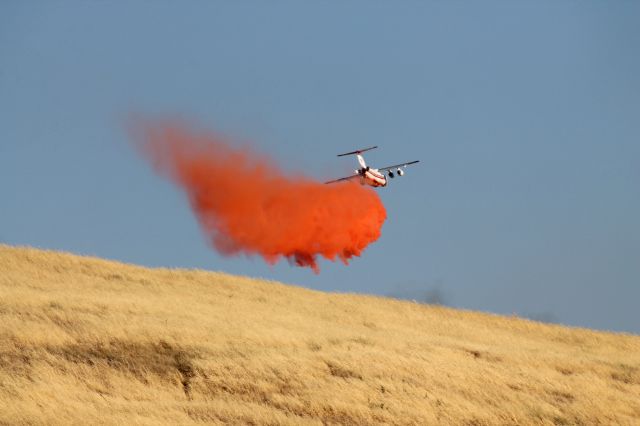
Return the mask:
[[347,264],[380,236],[384,206],[358,183],[287,175],[264,155],[183,126],[146,126],[142,142],[224,255],[257,254],[270,264],[285,257],[318,273],[318,256]]

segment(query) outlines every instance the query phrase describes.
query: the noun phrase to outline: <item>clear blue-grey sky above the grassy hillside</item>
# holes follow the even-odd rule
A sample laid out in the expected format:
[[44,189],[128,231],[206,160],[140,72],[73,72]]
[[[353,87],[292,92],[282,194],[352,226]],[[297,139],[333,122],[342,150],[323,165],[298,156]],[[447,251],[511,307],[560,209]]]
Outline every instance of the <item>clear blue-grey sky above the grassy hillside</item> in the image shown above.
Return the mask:
[[[126,4],[126,5],[125,5]],[[640,333],[640,2],[0,2],[0,241]],[[420,159],[320,275],[209,249],[129,114]],[[431,295],[431,296],[429,296]]]

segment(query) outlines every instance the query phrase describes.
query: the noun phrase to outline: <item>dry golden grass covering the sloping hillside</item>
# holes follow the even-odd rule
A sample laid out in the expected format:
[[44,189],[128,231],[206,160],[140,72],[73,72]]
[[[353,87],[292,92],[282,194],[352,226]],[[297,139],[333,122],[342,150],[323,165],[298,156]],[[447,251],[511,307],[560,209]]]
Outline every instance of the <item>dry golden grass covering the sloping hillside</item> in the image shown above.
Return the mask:
[[0,245],[0,424],[640,424],[640,337]]

